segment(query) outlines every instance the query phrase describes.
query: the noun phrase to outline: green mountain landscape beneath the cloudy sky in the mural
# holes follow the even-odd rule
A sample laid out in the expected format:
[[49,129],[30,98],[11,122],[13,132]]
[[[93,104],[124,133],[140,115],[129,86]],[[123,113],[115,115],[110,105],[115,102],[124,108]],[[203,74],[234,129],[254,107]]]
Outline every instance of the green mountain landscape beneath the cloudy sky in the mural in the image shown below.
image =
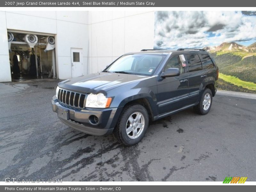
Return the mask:
[[220,89],[256,93],[256,42],[249,46],[225,42],[204,49],[220,69]]

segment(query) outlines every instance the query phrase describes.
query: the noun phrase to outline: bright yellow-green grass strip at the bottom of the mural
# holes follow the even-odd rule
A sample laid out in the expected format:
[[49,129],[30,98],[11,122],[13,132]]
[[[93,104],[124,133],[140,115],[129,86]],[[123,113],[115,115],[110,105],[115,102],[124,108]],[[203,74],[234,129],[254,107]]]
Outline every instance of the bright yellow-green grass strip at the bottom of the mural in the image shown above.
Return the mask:
[[228,83],[232,83],[234,85],[241,86],[241,87],[244,87],[246,89],[256,91],[256,84],[255,83],[243,81],[243,80],[241,80],[237,77],[224,75],[222,73],[219,74],[219,78],[228,82]]

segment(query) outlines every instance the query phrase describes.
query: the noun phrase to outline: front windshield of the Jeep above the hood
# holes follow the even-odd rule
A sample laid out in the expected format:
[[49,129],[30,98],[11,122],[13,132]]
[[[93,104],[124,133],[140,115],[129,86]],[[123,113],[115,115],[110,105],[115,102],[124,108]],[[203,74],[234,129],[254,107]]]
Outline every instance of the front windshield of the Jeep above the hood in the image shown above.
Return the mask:
[[162,62],[165,55],[133,54],[124,55],[107,67],[103,72],[126,73],[150,76]]

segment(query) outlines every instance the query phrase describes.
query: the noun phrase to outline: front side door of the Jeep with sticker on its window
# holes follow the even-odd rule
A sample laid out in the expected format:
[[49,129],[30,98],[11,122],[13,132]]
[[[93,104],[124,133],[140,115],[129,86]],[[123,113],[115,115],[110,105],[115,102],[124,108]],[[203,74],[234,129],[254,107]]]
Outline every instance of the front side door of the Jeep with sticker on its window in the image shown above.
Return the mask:
[[180,75],[159,78],[157,82],[157,105],[160,115],[187,105],[188,74],[186,61],[182,62],[180,56],[184,58],[184,55],[172,56],[163,69],[164,71],[167,68],[179,68]]

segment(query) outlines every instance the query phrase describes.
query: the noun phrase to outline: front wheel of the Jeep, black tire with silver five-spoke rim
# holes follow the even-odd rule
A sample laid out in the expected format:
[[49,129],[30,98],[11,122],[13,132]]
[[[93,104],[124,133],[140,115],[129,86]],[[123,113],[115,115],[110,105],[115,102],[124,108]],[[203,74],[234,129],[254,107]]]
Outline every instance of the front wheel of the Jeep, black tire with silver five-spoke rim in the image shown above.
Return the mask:
[[119,117],[114,135],[118,142],[127,146],[134,145],[144,137],[148,122],[149,116],[146,108],[139,104],[127,106]]

